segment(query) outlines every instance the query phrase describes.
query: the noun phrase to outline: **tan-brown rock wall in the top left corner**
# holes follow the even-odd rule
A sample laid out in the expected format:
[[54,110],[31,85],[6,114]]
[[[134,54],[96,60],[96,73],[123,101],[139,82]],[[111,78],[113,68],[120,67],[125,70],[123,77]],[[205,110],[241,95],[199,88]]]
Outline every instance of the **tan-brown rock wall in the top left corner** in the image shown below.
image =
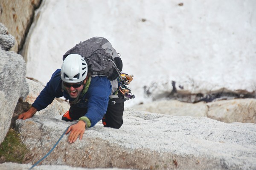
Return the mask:
[[[12,48],[15,52],[22,47],[34,10],[40,3],[41,0],[22,0],[22,3],[19,0],[0,1],[0,23],[3,23],[15,37],[17,43]],[[1,38],[0,36],[0,41]]]

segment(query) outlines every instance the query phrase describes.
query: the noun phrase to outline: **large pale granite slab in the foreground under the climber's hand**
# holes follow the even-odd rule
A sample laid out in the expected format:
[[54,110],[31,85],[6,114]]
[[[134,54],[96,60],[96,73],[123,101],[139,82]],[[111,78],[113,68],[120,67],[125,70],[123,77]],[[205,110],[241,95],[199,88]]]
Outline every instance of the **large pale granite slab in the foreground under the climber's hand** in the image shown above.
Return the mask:
[[[20,138],[35,163],[48,153],[66,128],[76,122],[61,115],[17,120]],[[41,164],[131,169],[256,169],[256,124],[231,123],[206,117],[170,116],[125,109],[117,129],[99,122],[73,144],[64,135]]]

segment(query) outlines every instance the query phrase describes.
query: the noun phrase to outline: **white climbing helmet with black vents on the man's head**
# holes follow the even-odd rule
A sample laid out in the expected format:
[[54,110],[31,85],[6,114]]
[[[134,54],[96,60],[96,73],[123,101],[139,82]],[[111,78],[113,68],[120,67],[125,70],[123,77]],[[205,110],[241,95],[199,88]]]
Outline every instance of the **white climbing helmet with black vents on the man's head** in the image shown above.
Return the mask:
[[86,78],[87,67],[81,55],[70,54],[62,63],[61,80],[66,83],[79,83]]

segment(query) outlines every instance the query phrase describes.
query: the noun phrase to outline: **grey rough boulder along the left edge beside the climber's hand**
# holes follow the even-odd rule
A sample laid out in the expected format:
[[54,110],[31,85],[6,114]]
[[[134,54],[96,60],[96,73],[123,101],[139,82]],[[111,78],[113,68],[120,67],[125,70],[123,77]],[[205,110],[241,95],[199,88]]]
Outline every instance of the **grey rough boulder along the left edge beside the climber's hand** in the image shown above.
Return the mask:
[[18,99],[24,99],[29,92],[25,81],[26,64],[23,57],[15,52],[3,50],[13,45],[13,37],[8,35],[6,30],[6,27],[0,25],[0,37],[7,35],[0,43],[0,143],[9,130]]

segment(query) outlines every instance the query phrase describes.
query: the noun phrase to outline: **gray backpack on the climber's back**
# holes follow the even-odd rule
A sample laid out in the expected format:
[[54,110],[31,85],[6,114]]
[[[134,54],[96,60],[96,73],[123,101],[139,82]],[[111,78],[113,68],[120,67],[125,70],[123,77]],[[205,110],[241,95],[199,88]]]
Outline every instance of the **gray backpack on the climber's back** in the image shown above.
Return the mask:
[[91,76],[106,76],[113,81],[121,75],[122,60],[106,38],[93,37],[76,44],[63,55],[63,60],[70,54],[84,58]]

